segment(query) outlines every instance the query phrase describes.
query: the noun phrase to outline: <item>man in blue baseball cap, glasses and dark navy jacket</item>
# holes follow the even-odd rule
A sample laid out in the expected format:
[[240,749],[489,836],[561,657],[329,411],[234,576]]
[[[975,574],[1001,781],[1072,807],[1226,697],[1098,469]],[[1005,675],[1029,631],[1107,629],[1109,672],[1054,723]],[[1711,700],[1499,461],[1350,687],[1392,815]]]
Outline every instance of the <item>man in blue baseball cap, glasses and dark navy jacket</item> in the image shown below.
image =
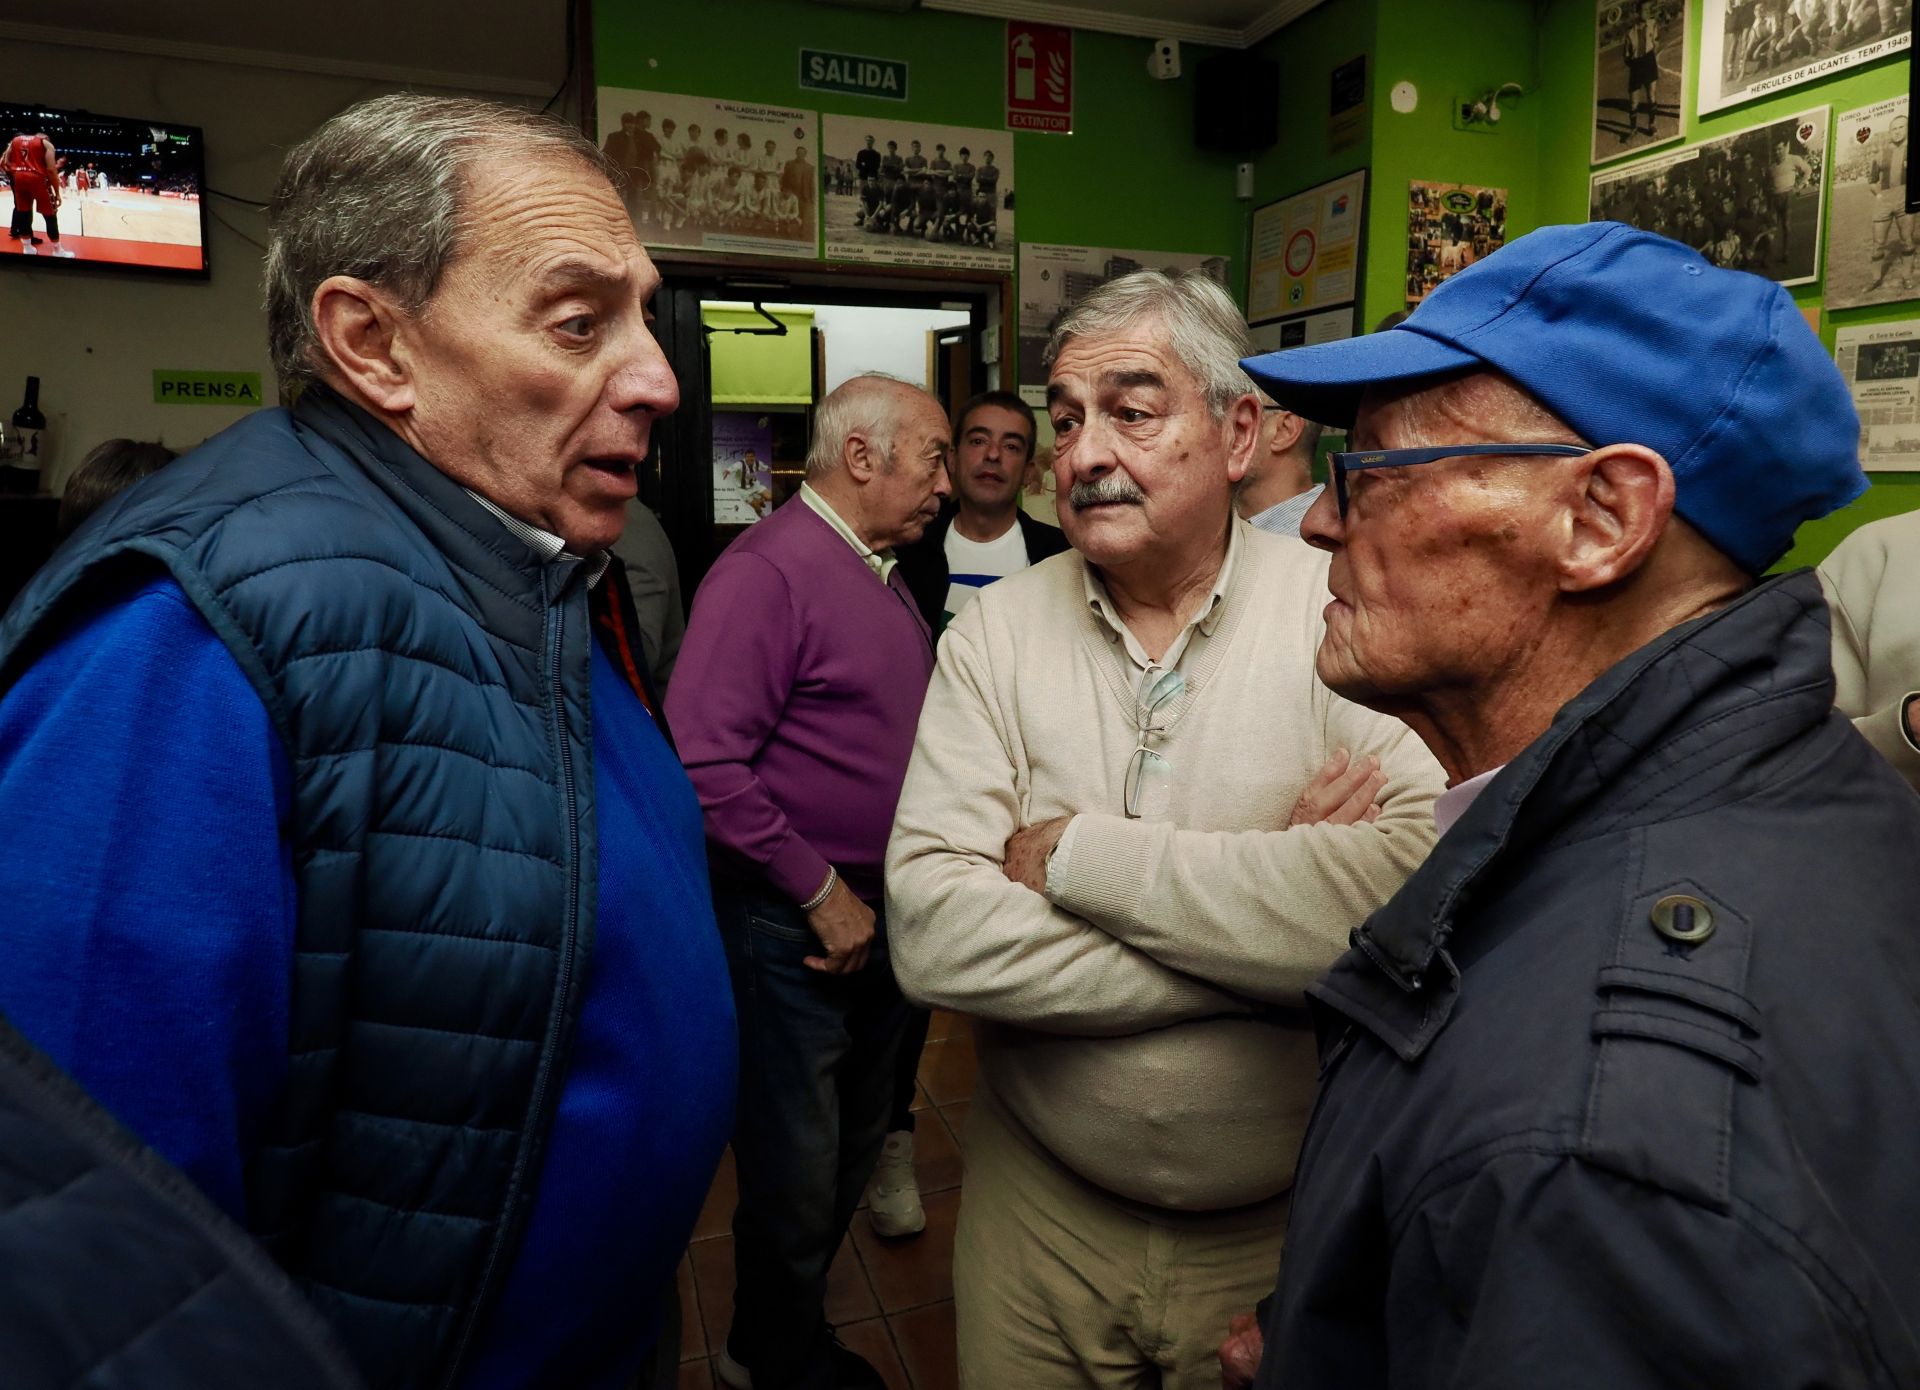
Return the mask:
[[1832,708],[1814,576],[1761,578],[1864,490],[1799,309],[1551,227],[1246,367],[1354,426],[1302,526],[1319,676],[1450,791],[1309,991],[1227,1382],[1920,1384],[1920,801]]

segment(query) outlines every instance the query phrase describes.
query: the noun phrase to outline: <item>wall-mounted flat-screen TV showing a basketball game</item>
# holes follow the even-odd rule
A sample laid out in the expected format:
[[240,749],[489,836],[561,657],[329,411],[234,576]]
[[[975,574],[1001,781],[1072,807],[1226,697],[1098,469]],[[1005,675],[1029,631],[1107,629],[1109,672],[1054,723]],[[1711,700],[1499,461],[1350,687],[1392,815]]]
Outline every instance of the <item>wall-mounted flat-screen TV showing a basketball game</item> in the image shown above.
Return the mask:
[[0,263],[205,278],[204,194],[200,127],[0,102]]

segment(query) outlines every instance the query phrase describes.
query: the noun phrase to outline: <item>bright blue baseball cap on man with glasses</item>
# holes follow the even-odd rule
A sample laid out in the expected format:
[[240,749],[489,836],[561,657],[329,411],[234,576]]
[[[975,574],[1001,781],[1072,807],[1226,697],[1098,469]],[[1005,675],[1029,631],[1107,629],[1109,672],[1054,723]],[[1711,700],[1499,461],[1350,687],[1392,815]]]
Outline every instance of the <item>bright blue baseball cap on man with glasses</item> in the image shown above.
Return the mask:
[[1288,411],[1336,426],[1369,386],[1492,367],[1588,443],[1661,453],[1674,511],[1749,574],[1803,520],[1866,491],[1853,397],[1793,296],[1620,223],[1542,227],[1386,332],[1240,365]]

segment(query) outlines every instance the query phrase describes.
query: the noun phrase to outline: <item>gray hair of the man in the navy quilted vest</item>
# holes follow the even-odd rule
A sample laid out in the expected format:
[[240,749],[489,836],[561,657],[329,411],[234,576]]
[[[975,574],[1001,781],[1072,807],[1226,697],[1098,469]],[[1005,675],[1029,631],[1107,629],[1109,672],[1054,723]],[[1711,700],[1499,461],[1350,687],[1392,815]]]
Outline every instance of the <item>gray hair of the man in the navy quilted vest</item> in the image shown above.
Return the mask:
[[468,230],[465,190],[490,144],[620,175],[580,131],[467,96],[397,92],[349,106],[280,167],[267,238],[267,346],[284,388],[317,372],[313,292],[351,275],[419,313]]

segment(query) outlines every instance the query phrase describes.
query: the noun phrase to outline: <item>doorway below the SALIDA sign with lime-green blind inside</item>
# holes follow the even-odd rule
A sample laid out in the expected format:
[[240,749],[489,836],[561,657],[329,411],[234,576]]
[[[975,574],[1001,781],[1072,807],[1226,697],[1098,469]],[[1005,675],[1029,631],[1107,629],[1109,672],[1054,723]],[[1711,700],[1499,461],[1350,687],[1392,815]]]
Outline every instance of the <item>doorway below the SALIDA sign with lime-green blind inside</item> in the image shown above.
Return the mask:
[[799,491],[828,392],[881,371],[924,386],[952,415],[998,386],[1010,361],[1004,276],[672,261],[660,273],[655,336],[680,380],[680,409],[655,426],[639,497],[666,528],[689,607],[720,551]]

